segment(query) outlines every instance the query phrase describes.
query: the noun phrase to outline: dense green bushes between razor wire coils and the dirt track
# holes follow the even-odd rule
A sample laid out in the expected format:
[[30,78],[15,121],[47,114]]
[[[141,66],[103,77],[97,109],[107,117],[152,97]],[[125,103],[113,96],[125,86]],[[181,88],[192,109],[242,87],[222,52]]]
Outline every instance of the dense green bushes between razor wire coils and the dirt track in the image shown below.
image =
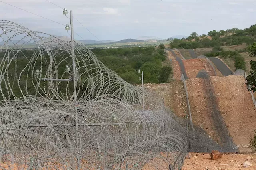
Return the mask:
[[104,65],[112,69],[125,81],[136,84],[139,82],[138,70],[144,71],[145,83],[167,83],[172,67],[162,67],[166,60],[164,44],[155,47],[132,48],[95,48],[92,52]]

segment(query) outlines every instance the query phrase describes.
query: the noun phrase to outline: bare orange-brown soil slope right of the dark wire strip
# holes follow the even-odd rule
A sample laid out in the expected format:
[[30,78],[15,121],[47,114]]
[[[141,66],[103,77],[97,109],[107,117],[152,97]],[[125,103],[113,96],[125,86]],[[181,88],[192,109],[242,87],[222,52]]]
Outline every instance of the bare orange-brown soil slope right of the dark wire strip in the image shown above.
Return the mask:
[[212,77],[212,82],[215,92],[219,93],[220,111],[234,142],[249,144],[248,138],[256,130],[256,109],[244,77]]

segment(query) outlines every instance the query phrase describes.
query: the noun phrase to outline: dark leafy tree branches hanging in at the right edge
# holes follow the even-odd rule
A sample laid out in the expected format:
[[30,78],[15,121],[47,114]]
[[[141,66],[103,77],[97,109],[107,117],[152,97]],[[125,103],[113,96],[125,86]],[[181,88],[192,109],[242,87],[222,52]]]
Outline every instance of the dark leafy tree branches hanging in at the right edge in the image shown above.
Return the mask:
[[[256,57],[256,43],[254,42],[252,45],[248,47],[248,51],[250,51],[250,56]],[[256,91],[256,61],[250,61],[251,71],[249,75],[246,77],[246,85],[249,91]],[[256,146],[256,145],[255,145]]]

